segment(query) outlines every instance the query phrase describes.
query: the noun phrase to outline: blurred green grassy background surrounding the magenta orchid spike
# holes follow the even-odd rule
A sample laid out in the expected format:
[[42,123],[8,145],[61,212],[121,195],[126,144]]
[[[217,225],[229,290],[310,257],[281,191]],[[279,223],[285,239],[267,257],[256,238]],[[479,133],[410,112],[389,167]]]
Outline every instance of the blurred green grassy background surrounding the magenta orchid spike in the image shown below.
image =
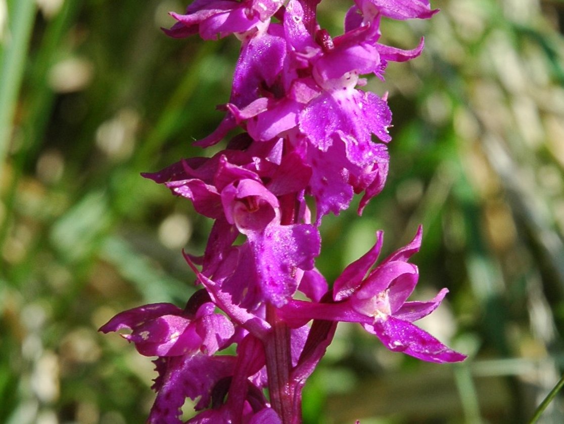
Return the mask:
[[[325,218],[332,281],[385,230],[424,225],[413,296],[450,294],[421,326],[460,365],[391,353],[341,325],[306,386],[307,423],[520,423],[564,369],[564,2],[443,0],[382,24],[422,56],[390,64],[391,169],[365,209]],[[340,33],[350,2],[324,0]],[[96,329],[123,309],[182,306],[210,222],[139,176],[209,134],[239,42],[161,33],[173,0],[0,0],[0,422],[139,423],[149,359]],[[358,202],[358,199],[356,200]],[[186,405],[190,416],[190,404]],[[564,422],[557,399],[542,422]]]

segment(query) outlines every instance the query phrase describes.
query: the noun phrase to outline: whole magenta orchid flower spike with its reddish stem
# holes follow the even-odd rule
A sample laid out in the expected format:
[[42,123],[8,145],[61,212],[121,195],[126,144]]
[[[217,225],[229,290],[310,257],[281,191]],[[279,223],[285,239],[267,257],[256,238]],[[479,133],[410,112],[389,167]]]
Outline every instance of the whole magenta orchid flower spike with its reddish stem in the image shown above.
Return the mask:
[[[437,10],[428,0],[355,0],[344,33],[332,38],[316,21],[318,3],[196,0],[186,14],[171,14],[171,37],[241,41],[225,116],[196,145],[242,131],[211,158],[144,174],[214,220],[204,255],[184,253],[203,287],[184,309],[144,305],[100,329],[130,330],[123,336],[139,353],[157,356],[149,423],[182,422],[187,397],[198,412],[188,423],[301,422],[302,388],[339,321],[358,322],[391,351],[424,361],[465,358],[412,324],[448,291],[407,301],[418,279],[409,259],[421,228],[375,265],[378,231],[332,288],[315,268],[321,219],[347,209],[355,193],[363,193],[362,213],[386,181],[391,112],[385,95],[358,89],[361,75],[383,78],[387,62],[423,49],[423,40],[413,50],[379,43],[380,20],[425,19]],[[235,355],[216,355],[232,345]]]

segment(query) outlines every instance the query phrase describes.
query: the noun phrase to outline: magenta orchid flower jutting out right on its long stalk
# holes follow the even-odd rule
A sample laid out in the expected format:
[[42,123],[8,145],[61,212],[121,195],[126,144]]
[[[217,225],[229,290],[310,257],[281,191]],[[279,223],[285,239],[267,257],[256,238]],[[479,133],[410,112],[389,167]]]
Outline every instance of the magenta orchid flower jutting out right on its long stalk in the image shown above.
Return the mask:
[[333,303],[292,300],[280,309],[280,317],[290,326],[302,326],[312,319],[359,322],[391,351],[429,362],[464,360],[465,355],[412,324],[433,312],[448,292],[442,289],[429,301],[407,301],[418,278],[417,266],[408,259],[419,250],[421,234],[420,227],[411,243],[368,272],[382,246],[382,233],[378,231],[374,247],[347,266],[335,281]]

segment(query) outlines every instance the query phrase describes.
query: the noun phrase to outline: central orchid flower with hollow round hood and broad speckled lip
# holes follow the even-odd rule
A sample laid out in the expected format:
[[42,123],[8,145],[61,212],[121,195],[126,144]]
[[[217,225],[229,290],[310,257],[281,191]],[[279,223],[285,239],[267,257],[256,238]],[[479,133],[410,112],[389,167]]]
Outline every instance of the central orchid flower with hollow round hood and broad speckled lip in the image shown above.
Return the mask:
[[[243,245],[231,247],[235,231],[222,230],[213,238],[214,255],[210,256],[215,260],[204,264],[202,273],[221,282],[233,300],[249,310],[265,301],[276,306],[284,304],[297,290],[297,270],[314,267],[314,257],[320,252],[318,229],[309,223],[282,225],[279,200],[263,185],[257,172],[229,163],[226,156],[214,161],[217,168],[208,165],[203,162],[192,169],[185,163],[182,171],[175,167],[174,171],[161,171],[152,177],[157,181],[196,177],[169,181],[166,186],[192,200],[197,211],[218,220],[221,228],[231,225],[246,235]],[[271,171],[270,182],[276,193],[290,192],[281,181],[287,172]],[[298,176],[297,181],[301,179]],[[292,189],[298,189],[296,179],[293,181]]]

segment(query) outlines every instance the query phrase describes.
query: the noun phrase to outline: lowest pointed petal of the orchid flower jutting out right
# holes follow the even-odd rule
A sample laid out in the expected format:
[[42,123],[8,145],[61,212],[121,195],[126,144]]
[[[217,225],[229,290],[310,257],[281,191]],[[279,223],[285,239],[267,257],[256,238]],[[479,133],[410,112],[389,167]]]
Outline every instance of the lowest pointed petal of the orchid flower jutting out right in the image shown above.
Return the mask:
[[428,362],[459,362],[466,355],[453,351],[429,333],[411,322],[394,317],[377,321],[373,325],[364,324],[364,328],[375,334],[388,349],[403,352]]

